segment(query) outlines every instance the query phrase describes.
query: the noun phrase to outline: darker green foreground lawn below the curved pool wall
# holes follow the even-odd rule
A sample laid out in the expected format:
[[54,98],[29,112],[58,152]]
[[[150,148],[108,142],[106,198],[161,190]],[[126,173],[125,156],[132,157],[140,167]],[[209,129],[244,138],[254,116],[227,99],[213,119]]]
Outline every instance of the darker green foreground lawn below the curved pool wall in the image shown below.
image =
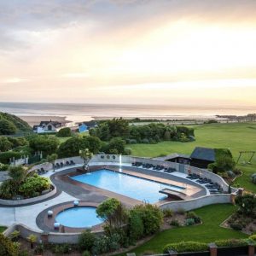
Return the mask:
[[137,255],[147,251],[162,253],[162,249],[167,243],[177,241],[211,242],[219,239],[246,238],[247,235],[240,231],[224,229],[219,226],[235,209],[236,207],[230,204],[218,204],[197,209],[194,212],[201,216],[203,224],[162,231],[131,252],[137,253]]

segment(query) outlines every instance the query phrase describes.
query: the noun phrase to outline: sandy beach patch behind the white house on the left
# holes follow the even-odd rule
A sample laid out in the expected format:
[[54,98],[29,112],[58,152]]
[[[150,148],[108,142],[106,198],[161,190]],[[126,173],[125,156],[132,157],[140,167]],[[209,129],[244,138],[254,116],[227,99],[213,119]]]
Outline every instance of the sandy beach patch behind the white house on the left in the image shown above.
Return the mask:
[[62,126],[66,125],[67,123],[71,122],[66,119],[65,116],[43,116],[43,115],[38,115],[38,116],[32,116],[32,115],[19,115],[19,118],[26,121],[28,125],[39,125],[41,121],[58,121],[62,124]]

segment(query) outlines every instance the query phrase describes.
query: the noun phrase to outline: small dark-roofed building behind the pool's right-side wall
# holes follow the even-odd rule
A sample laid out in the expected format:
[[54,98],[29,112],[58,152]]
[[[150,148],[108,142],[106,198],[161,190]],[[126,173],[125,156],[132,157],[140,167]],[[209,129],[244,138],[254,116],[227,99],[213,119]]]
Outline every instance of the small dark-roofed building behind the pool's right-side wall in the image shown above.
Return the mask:
[[190,165],[198,168],[207,168],[209,164],[215,162],[214,148],[196,147],[190,155]]

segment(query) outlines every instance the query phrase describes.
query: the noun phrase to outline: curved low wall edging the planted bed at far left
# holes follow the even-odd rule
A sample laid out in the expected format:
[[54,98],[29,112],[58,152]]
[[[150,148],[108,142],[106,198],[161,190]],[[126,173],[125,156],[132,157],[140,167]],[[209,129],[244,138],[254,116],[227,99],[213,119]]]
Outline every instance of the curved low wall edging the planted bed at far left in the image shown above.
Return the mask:
[[45,199],[48,199],[49,197],[55,195],[57,193],[56,187],[52,184],[53,189],[49,191],[49,193],[45,195],[39,195],[37,197],[32,197],[28,199],[21,199],[21,200],[3,200],[0,199],[0,204],[3,206],[22,206],[26,204],[36,203],[38,201],[43,201]]

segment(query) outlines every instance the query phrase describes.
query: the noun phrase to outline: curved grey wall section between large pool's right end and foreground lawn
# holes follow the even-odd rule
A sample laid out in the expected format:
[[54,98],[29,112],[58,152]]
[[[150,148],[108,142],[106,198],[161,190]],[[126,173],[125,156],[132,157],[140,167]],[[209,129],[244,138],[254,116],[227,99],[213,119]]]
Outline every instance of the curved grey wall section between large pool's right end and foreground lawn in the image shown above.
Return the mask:
[[177,211],[178,209],[183,209],[186,212],[194,210],[196,208],[205,207],[212,204],[224,204],[230,203],[230,194],[221,195],[205,195],[188,201],[172,201],[167,202],[160,206],[160,209],[172,209],[172,211]]

